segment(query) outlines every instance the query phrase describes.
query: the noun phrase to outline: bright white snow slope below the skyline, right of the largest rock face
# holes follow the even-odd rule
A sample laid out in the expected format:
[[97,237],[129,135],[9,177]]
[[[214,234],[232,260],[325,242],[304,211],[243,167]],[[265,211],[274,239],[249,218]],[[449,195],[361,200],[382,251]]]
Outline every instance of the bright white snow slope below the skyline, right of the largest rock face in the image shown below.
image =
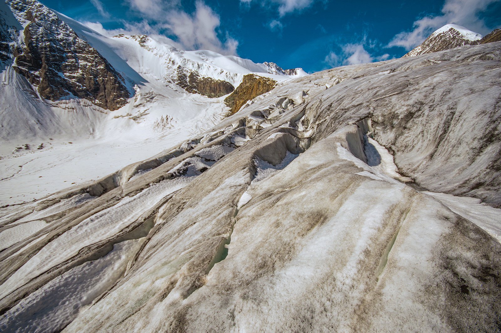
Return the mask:
[[178,66],[196,71],[201,76],[227,81],[234,87],[238,86],[243,76],[249,73],[273,78],[276,81],[307,75],[302,69],[298,69],[295,75],[281,75],[275,68],[271,68],[275,65],[273,63],[270,63],[273,65],[256,64],[248,59],[222,56],[208,50],[183,51],[143,35],[119,35],[107,38],[63,14],[58,15],[110,61],[115,69],[128,75],[129,69],[123,64],[125,60],[130,68],[141,74],[141,77],[150,84],[155,81],[160,81],[163,85],[171,83]]

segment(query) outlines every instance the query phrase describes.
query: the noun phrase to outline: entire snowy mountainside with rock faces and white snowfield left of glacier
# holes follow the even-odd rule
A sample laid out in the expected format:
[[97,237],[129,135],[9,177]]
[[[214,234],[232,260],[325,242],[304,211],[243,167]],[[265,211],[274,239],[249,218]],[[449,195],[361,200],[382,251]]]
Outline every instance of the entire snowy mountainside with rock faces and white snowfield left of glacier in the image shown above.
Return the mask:
[[[0,2],[0,14],[3,205],[102,177],[210,128],[245,75],[307,75],[148,36],[107,38],[35,0]],[[88,161],[83,173],[68,171]]]

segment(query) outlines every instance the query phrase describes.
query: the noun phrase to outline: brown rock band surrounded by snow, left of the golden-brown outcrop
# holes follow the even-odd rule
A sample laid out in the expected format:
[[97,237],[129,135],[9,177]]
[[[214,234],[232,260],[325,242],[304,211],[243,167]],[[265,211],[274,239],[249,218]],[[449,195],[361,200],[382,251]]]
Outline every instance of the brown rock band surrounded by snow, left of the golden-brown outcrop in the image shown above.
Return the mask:
[[221,97],[235,90],[229,82],[203,77],[191,71],[186,74],[180,66],[177,67],[176,83],[188,93],[200,94],[209,98]]

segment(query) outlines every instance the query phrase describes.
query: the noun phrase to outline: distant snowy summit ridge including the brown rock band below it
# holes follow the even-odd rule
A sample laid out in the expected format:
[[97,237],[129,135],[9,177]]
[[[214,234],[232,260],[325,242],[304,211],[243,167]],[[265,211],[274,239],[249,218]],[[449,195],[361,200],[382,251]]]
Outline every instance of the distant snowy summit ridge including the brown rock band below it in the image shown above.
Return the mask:
[[[97,34],[97,33],[96,33]],[[308,75],[303,69],[282,69],[275,63],[254,63],[236,56],[223,56],[209,50],[184,51],[146,35],[117,35],[108,39],[122,58],[154,57],[150,64],[137,64],[134,68],[148,67],[167,86],[176,85],[188,93],[209,98],[227,95],[242,83],[245,75],[255,74],[284,81],[291,77]],[[123,54],[124,49],[136,49],[135,55]],[[146,53],[144,51],[147,51]],[[128,61],[131,63],[131,61]],[[150,78],[151,80],[151,78]]]

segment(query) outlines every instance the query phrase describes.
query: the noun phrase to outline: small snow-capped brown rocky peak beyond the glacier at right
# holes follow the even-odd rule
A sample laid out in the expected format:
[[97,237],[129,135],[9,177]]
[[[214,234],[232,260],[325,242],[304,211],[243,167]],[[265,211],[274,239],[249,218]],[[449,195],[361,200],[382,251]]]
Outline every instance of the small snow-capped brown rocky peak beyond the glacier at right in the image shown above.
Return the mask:
[[449,50],[463,45],[485,44],[497,41],[501,41],[501,29],[496,29],[482,38],[482,35],[464,27],[448,24],[433,32],[423,43],[412,49],[404,57]]

